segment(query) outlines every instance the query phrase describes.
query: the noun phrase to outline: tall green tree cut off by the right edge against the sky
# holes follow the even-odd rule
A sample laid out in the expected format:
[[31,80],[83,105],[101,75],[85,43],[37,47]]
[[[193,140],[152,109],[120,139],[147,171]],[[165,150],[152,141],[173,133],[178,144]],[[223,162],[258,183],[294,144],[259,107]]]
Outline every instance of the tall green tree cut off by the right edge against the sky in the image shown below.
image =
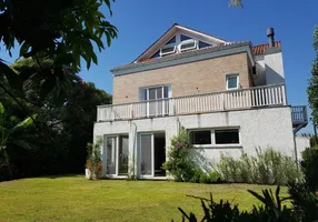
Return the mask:
[[318,26],[314,32],[314,49],[316,52],[316,59],[312,62],[311,78],[309,79],[309,85],[307,89],[308,102],[312,112],[312,123],[318,124]]

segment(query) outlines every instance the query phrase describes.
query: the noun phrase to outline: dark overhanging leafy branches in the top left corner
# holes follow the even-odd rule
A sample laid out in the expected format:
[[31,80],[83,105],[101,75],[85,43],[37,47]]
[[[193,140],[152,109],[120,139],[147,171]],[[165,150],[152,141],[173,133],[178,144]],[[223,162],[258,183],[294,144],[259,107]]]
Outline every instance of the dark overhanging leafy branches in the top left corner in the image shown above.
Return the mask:
[[[16,99],[18,92],[23,92],[23,80],[37,77],[41,79],[38,88],[42,94],[54,90],[56,97],[62,98],[60,88],[68,83],[66,71],[77,73],[81,58],[87,69],[91,62],[97,64],[95,47],[100,51],[105,49],[103,41],[109,47],[117,37],[116,27],[100,11],[103,6],[112,14],[111,0],[0,0],[0,42],[10,56],[18,43],[20,57],[33,58],[39,68],[36,72],[16,73],[0,59],[0,75],[18,91],[10,93],[2,82],[0,88]],[[44,65],[42,61],[47,60],[52,64]]]

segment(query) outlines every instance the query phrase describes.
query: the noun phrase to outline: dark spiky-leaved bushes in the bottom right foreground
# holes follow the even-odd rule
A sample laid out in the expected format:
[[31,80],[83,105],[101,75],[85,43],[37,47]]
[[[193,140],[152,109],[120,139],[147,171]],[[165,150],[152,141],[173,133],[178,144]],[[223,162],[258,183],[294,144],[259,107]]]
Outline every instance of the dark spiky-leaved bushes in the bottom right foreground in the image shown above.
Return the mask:
[[[280,196],[280,188],[277,186],[274,193],[270,189],[262,190],[258,194],[248,191],[262,204],[254,204],[251,211],[240,211],[238,204],[220,200],[215,202],[212,194],[210,199],[192,196],[199,199],[202,206],[202,219],[198,219],[192,212],[187,213],[178,208],[182,214],[182,221],[210,221],[210,222],[315,222],[318,219],[318,198],[302,183],[288,185],[288,198]],[[289,204],[284,204],[285,201]]]

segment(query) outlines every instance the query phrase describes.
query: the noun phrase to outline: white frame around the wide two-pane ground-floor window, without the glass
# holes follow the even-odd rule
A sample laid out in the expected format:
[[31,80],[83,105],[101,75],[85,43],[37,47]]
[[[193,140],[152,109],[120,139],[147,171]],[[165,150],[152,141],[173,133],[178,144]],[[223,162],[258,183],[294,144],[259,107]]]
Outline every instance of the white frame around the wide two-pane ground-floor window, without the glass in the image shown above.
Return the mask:
[[[217,130],[238,130],[239,143],[216,144],[216,131]],[[240,132],[239,127],[195,129],[195,130],[190,130],[189,133],[196,132],[196,131],[210,131],[211,132],[211,144],[192,144],[193,148],[242,148],[241,132]]]

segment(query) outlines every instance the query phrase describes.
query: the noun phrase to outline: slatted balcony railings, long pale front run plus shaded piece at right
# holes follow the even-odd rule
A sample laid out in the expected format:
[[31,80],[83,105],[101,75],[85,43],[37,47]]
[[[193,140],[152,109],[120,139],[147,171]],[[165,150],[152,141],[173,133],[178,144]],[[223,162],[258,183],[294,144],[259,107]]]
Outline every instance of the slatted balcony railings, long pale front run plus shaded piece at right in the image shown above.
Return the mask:
[[[230,90],[189,97],[148,100],[115,105],[99,105],[97,121],[133,120],[166,115],[247,110],[286,105],[285,84]],[[292,108],[294,125],[307,122],[306,107]]]

